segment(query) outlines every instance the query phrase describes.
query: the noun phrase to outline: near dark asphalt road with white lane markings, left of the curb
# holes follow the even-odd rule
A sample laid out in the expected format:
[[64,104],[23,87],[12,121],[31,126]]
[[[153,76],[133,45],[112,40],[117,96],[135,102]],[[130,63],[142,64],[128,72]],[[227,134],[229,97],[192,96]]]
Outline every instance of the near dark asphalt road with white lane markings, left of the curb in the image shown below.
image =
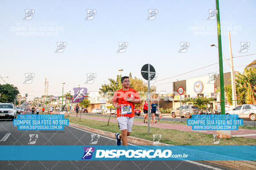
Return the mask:
[[[9,133],[5,141],[2,139]],[[31,145],[29,134],[37,134],[34,145],[93,145],[91,134],[66,126],[64,130],[17,130],[12,121],[0,120],[0,145]],[[8,135],[7,135],[8,136]],[[115,140],[100,136],[94,145],[115,145]],[[37,153],[38,154],[38,153]],[[22,155],[21,155],[22,156]],[[224,169],[197,161],[0,161],[0,170],[212,170]],[[217,168],[217,169],[216,169]]]

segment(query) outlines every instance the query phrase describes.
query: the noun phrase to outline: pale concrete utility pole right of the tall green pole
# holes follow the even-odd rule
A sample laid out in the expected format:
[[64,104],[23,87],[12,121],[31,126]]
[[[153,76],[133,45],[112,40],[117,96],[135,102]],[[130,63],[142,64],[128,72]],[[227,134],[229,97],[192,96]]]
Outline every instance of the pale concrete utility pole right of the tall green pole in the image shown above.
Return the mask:
[[237,105],[237,102],[236,102],[236,83],[235,83],[235,74],[234,74],[234,66],[233,66],[233,55],[232,55],[232,48],[231,48],[230,31],[228,31],[228,37],[229,37],[229,45],[230,45],[232,105],[235,108],[236,105]]

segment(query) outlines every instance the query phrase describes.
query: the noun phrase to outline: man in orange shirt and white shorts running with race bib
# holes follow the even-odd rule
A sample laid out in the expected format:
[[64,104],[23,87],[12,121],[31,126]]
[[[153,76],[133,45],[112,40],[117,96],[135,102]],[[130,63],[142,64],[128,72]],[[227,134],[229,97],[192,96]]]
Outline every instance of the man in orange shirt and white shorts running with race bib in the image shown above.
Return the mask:
[[122,143],[125,147],[128,145],[127,136],[130,135],[134,121],[134,104],[140,105],[139,93],[130,88],[130,80],[128,76],[121,78],[122,89],[114,93],[112,104],[117,111],[117,122],[121,134],[116,133],[116,145]]

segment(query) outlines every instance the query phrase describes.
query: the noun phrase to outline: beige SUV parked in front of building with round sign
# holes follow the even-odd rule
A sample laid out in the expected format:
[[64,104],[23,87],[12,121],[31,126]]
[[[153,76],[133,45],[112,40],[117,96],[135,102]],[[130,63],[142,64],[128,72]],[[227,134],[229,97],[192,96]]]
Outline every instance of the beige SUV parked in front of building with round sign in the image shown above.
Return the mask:
[[180,116],[180,108],[181,108],[181,117],[186,116],[186,118],[190,118],[193,114],[198,114],[200,109],[197,106],[191,105],[183,105],[172,111],[172,117]]

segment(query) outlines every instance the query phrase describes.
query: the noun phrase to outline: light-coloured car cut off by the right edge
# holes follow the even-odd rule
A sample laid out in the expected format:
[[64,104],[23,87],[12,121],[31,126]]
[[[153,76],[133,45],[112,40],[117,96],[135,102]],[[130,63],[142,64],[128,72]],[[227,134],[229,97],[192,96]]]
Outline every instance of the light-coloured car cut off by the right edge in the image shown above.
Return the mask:
[[256,120],[256,105],[239,105],[226,111],[226,114],[237,114],[239,118]]

